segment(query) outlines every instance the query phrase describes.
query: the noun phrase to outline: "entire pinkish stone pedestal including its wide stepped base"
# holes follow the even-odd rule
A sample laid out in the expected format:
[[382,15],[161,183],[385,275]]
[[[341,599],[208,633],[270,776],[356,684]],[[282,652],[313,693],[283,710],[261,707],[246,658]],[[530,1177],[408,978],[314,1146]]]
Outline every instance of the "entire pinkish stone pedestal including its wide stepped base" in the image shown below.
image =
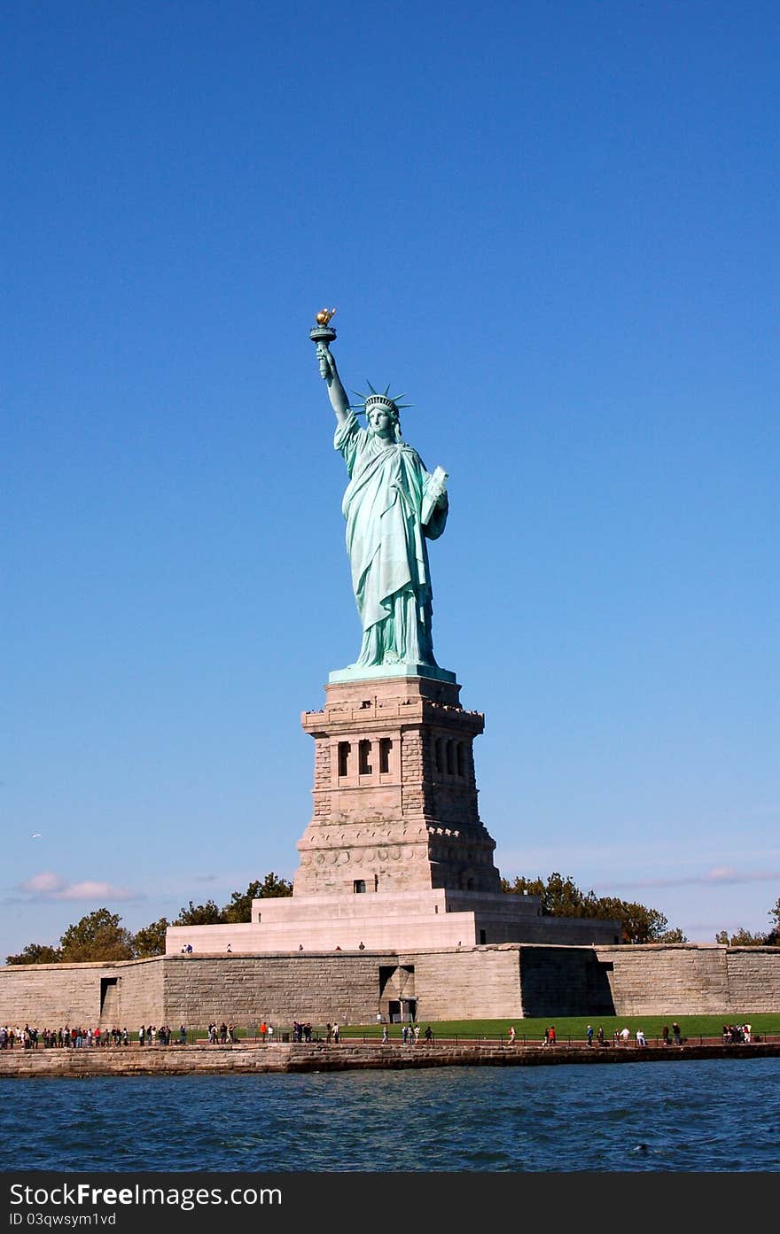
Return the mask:
[[332,674],[325,707],[301,721],[315,739],[313,813],[292,896],[254,900],[251,922],[169,927],[168,953],[612,942],[615,923],[541,917],[538,896],[501,891],[474,775],[485,717],[459,695],[452,673],[425,665]]

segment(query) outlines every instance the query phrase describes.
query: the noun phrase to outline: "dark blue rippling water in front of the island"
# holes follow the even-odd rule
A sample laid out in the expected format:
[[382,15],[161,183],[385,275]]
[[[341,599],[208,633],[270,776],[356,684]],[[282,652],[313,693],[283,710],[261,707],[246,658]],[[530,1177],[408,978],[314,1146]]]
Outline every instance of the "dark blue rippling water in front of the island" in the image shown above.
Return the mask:
[[778,1171],[780,1059],[0,1080],[0,1143],[15,1172]]

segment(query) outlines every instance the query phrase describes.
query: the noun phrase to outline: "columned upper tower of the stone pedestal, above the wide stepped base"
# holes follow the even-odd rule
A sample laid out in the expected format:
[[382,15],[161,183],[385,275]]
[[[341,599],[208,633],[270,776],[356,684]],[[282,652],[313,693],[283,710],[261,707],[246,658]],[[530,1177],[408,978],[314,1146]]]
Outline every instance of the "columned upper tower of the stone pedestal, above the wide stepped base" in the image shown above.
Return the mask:
[[501,890],[474,775],[485,717],[459,694],[426,676],[331,680],[323,710],[304,712],[313,814],[294,898]]

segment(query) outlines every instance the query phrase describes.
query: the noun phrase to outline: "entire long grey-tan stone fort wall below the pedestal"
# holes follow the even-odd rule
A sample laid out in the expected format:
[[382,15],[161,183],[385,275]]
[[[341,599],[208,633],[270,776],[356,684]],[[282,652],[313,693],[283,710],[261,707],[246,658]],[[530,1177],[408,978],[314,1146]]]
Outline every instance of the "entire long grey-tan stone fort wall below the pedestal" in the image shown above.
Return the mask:
[[[780,948],[494,946],[268,955],[169,955],[120,964],[0,967],[0,1023],[254,1027],[262,1018],[373,1023],[399,997],[417,1018],[560,1016],[741,1018],[780,1011]],[[396,988],[397,987],[397,988]]]

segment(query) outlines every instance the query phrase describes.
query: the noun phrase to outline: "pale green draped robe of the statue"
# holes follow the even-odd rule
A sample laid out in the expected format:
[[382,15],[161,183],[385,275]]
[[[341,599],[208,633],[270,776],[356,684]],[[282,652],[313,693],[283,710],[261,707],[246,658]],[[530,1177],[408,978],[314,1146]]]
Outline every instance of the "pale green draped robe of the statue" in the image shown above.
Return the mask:
[[333,444],[344,455],[349,484],[342,511],[352,586],[363,622],[355,661],[431,664],[433,642],[427,539],[444,531],[447,501],[422,523],[432,484],[422,459],[404,442],[386,442],[360,428],[353,411],[336,429]]

